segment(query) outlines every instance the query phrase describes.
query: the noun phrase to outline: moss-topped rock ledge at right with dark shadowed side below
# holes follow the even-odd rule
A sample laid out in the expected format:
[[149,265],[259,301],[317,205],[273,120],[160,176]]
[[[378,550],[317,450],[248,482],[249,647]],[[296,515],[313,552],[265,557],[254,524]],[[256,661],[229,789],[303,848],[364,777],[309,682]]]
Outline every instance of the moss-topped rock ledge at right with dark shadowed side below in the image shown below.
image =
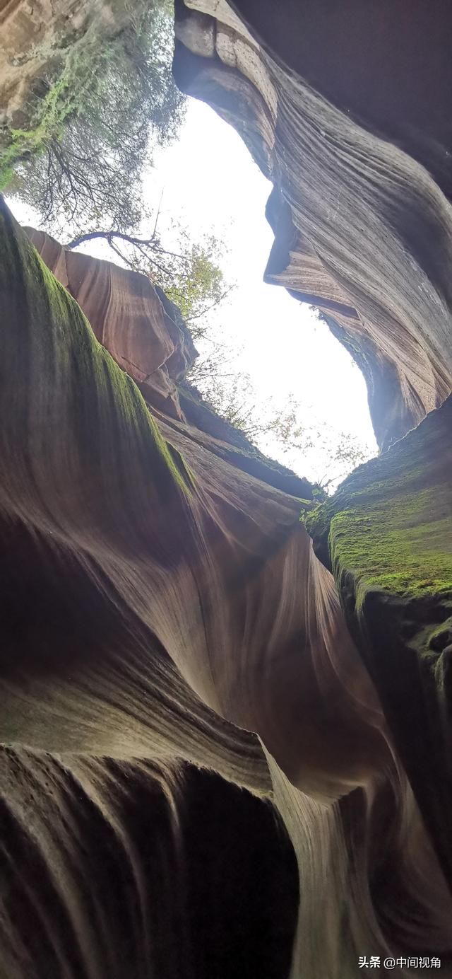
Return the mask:
[[452,397],[306,524],[452,875]]

